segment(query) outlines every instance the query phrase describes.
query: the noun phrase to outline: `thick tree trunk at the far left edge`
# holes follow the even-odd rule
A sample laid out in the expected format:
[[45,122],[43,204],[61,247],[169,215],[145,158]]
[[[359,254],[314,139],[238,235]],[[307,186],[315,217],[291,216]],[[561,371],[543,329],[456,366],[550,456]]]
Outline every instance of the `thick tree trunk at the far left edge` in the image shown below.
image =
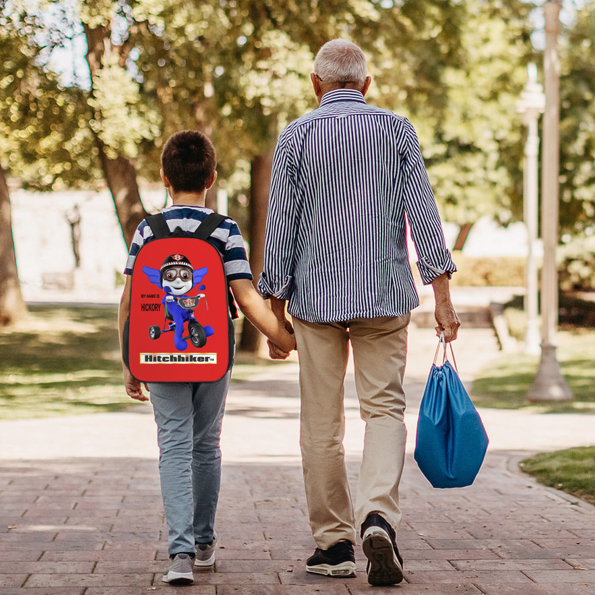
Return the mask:
[[27,306],[18,283],[17,258],[14,252],[10,196],[4,170],[0,167],[0,327],[27,317]]

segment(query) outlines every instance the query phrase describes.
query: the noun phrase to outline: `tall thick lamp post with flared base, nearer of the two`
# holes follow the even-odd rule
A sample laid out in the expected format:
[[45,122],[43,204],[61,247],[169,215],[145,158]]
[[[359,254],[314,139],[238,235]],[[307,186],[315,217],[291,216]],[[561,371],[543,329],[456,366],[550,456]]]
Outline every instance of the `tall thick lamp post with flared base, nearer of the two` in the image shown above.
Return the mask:
[[541,359],[528,400],[571,400],[566,381],[556,359],[558,330],[558,171],[559,171],[559,84],[558,35],[560,32],[560,2],[544,3],[546,49],[544,52],[544,89],[546,109],[543,114],[543,158],[541,167],[541,237],[543,237],[543,268],[541,269]]

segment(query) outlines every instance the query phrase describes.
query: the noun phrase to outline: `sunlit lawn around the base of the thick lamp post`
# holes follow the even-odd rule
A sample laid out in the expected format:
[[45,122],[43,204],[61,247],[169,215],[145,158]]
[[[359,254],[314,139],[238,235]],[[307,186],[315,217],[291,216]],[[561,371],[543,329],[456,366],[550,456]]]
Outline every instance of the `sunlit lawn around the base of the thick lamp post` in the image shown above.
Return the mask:
[[539,357],[508,353],[489,362],[475,378],[471,389],[475,405],[531,408],[544,413],[595,413],[595,331],[560,331],[558,342],[556,355],[574,395],[572,402],[529,405],[525,397],[533,383]]

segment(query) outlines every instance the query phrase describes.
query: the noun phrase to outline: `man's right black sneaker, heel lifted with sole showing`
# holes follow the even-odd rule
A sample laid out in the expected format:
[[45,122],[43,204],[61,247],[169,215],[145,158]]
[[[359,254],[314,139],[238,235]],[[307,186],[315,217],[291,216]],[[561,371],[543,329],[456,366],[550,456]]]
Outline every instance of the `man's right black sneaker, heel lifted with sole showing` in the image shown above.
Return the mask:
[[396,585],[403,580],[403,558],[394,529],[376,512],[368,515],[361,530],[362,548],[368,558],[368,583]]

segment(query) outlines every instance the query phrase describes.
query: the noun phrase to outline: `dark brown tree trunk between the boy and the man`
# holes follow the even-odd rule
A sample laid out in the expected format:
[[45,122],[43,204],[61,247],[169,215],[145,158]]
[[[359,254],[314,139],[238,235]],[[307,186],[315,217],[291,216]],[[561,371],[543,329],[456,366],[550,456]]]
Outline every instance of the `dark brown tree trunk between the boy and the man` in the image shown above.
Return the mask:
[[[256,155],[250,164],[250,269],[256,287],[264,264],[264,231],[267,221],[268,193],[271,188],[274,148]],[[240,349],[258,353],[262,334],[244,320]]]

